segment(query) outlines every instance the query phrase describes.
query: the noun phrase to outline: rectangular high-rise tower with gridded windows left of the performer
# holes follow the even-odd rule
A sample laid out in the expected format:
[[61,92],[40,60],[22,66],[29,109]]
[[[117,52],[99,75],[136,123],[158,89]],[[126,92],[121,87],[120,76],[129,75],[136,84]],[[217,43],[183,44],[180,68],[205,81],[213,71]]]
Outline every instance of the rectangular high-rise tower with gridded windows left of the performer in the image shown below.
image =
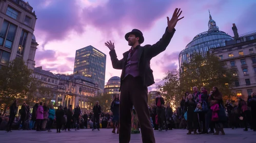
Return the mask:
[[106,55],[89,45],[75,52],[74,74],[90,77],[99,84],[100,92],[104,92]]

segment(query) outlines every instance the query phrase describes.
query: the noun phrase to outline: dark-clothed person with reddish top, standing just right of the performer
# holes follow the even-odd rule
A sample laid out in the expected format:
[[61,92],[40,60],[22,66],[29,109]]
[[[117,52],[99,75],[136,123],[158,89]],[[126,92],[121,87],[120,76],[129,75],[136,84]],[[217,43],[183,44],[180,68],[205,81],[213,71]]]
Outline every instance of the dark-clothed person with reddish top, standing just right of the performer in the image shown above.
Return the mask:
[[[162,120],[161,116],[163,114],[163,107],[165,105],[164,98],[161,96],[161,92],[156,92],[157,96],[155,98],[155,105],[156,105],[156,113],[157,113],[157,122],[159,124],[159,131],[163,130],[164,120]],[[165,113],[164,113],[165,114]]]

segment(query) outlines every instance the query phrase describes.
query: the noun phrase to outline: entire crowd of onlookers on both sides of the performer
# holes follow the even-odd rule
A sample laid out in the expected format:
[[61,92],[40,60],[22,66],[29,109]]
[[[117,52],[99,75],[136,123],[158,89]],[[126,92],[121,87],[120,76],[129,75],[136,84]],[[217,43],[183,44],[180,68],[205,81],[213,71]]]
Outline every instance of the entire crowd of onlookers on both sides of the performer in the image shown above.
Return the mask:
[[[241,98],[238,104],[226,101],[224,104],[222,94],[217,87],[213,87],[208,94],[205,87],[198,91],[193,87],[193,92],[186,92],[180,102],[180,106],[172,109],[169,104],[165,105],[161,92],[157,91],[155,104],[148,106],[152,128],[154,130],[188,129],[187,134],[225,134],[223,128],[241,128],[248,131],[248,127],[256,131],[256,92],[251,93],[247,102]],[[83,114],[77,105],[64,107],[60,105],[57,110],[47,103],[36,103],[32,107],[23,103],[17,111],[17,100],[9,108],[9,114],[0,113],[0,130],[11,132],[17,130],[48,131],[56,128],[56,132],[79,130],[81,128],[112,128],[112,133],[119,133],[119,104],[120,97],[116,94],[110,106],[111,112],[104,113],[96,102],[92,112]],[[18,116],[16,113],[18,112]],[[139,125],[140,126],[140,125]],[[117,131],[115,132],[115,130]],[[208,129],[210,131],[208,132]]]

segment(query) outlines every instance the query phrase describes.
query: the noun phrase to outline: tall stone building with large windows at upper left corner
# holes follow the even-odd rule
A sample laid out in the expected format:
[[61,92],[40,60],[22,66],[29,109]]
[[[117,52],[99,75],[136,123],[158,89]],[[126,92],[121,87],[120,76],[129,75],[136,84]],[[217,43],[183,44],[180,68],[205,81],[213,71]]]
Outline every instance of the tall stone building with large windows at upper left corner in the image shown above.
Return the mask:
[[33,69],[38,45],[33,35],[36,15],[28,2],[21,0],[0,1],[0,66],[22,57]]

